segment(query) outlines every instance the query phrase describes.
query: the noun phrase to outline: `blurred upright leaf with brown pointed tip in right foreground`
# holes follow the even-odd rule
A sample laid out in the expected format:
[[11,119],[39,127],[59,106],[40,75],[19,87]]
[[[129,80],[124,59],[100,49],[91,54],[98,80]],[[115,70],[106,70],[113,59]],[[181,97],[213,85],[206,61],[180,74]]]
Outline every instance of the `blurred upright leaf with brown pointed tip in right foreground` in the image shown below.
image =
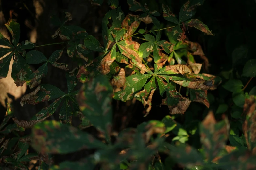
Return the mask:
[[201,143],[209,161],[218,156],[217,154],[224,148],[228,138],[228,120],[216,122],[214,114],[210,111],[200,124]]

